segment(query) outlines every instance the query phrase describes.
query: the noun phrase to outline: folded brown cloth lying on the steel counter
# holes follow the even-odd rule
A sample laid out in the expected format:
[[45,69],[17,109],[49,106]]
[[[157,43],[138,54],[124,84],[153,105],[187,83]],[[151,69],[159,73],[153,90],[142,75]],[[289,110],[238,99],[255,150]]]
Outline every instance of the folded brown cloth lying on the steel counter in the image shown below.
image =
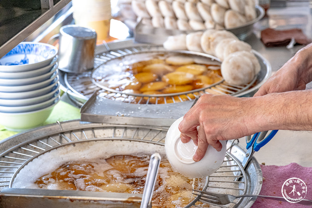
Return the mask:
[[307,45],[311,42],[301,29],[274,30],[267,28],[261,31],[261,41],[266,47],[287,46],[291,38],[295,38],[297,44]]

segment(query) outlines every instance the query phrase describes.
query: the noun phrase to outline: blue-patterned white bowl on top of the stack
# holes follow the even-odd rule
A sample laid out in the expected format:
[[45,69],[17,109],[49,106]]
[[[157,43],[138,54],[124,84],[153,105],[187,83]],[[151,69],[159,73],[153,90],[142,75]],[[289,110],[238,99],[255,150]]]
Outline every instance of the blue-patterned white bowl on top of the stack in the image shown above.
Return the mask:
[[42,68],[51,63],[57,48],[38,42],[21,42],[0,59],[1,72],[21,72]]

